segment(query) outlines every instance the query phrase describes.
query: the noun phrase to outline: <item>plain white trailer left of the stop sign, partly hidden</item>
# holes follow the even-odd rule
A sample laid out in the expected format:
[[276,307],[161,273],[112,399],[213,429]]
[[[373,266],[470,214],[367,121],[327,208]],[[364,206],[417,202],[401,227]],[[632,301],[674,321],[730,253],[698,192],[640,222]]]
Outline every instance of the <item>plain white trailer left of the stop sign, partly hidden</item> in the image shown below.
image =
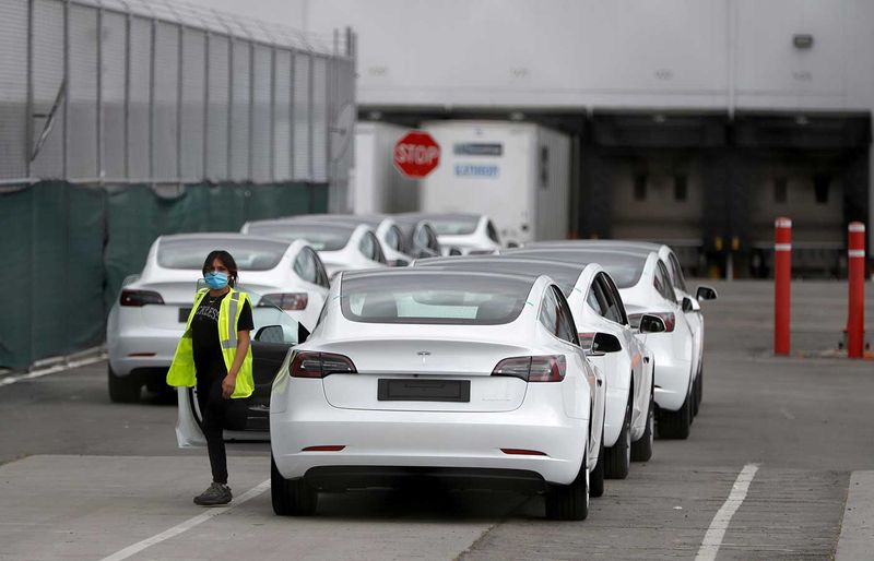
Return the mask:
[[418,210],[418,186],[394,169],[394,143],[408,129],[385,122],[355,124],[355,163],[349,193],[355,214],[400,213]]

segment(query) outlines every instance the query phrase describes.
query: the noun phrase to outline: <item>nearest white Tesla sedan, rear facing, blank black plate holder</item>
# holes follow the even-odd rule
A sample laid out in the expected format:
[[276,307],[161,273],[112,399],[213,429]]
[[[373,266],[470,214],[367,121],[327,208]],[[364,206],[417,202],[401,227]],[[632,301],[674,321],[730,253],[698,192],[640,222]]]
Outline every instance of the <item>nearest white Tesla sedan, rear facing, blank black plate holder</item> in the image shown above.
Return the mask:
[[545,492],[550,517],[581,520],[603,415],[548,277],[343,273],[273,383],[273,509],[310,514],[320,491],[424,476]]

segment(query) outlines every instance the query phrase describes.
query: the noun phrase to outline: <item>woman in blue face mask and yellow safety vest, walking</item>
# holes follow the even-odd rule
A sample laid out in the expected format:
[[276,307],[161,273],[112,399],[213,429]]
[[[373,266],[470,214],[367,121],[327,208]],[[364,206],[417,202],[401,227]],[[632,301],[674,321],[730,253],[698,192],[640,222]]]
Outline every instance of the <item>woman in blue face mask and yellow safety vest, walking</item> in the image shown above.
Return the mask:
[[198,290],[182,338],[176,347],[167,383],[198,387],[203,435],[212,467],[212,484],[194,503],[204,506],[231,502],[227,486],[224,421],[232,398],[252,394],[252,353],[249,295],[234,289],[237,264],[227,251],[210,252],[203,262],[209,288]]

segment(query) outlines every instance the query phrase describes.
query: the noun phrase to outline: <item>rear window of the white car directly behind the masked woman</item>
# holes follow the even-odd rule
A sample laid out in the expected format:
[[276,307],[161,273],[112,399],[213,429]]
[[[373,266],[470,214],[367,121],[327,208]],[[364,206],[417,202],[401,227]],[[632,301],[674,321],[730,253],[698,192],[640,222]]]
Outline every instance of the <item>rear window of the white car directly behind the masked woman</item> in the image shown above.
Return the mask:
[[165,268],[201,271],[210,251],[231,253],[240,271],[269,271],[275,267],[288,243],[239,238],[162,239],[157,264]]

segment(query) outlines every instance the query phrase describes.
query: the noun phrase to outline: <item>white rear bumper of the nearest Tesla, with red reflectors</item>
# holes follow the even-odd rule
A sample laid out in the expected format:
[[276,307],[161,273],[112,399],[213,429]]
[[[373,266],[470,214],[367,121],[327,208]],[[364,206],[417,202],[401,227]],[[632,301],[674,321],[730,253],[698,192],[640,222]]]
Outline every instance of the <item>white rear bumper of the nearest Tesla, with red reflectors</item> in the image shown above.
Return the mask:
[[[273,456],[288,479],[323,467],[463,468],[520,470],[567,485],[579,473],[588,440],[588,419],[531,404],[506,413],[339,409],[328,405],[320,383],[292,391],[285,410],[271,406],[270,415]],[[331,445],[343,449],[304,452]]]

